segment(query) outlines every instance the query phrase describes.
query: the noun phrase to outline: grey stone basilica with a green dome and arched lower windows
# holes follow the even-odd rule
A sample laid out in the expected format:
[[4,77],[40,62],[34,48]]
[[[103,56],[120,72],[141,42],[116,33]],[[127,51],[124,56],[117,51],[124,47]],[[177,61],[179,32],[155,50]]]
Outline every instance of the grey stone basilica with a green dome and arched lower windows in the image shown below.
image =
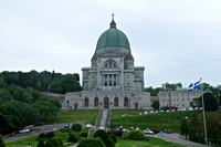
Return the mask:
[[144,92],[144,66],[134,65],[127,36],[114,18],[99,36],[91,60],[83,67],[82,92],[65,94],[63,109],[149,108],[150,94]]

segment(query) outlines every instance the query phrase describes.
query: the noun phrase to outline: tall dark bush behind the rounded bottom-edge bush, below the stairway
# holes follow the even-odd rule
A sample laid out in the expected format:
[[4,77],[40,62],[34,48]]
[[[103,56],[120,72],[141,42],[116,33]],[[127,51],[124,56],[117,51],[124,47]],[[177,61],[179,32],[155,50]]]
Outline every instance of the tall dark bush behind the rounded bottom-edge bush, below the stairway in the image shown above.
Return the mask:
[[96,133],[94,134],[93,137],[95,137],[95,138],[99,137],[104,141],[106,147],[114,147],[114,141],[103,129],[96,130]]

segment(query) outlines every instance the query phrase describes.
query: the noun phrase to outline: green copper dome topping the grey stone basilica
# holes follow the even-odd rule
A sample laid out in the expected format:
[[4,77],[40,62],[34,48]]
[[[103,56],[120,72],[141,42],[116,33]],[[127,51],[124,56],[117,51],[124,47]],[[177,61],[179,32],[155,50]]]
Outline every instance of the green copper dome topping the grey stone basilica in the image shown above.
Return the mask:
[[127,36],[124,34],[124,32],[116,29],[114,19],[109,25],[110,28],[99,36],[96,45],[96,51],[104,48],[123,48],[130,50]]

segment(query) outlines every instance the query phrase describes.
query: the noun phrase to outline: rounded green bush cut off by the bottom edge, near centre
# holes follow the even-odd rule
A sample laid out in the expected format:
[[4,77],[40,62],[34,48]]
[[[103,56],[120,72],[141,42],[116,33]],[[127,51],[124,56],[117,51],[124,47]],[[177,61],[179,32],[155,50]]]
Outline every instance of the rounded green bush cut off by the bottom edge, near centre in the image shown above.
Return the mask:
[[85,138],[76,147],[105,147],[101,138]]

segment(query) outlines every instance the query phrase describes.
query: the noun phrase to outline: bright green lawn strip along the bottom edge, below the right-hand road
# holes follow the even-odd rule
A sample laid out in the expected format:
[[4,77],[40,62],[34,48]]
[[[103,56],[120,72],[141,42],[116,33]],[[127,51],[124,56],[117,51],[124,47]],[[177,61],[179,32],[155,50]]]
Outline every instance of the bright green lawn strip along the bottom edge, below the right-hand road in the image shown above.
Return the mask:
[[115,147],[183,147],[173,143],[168,143],[159,138],[149,137],[149,140],[124,140],[118,139]]

